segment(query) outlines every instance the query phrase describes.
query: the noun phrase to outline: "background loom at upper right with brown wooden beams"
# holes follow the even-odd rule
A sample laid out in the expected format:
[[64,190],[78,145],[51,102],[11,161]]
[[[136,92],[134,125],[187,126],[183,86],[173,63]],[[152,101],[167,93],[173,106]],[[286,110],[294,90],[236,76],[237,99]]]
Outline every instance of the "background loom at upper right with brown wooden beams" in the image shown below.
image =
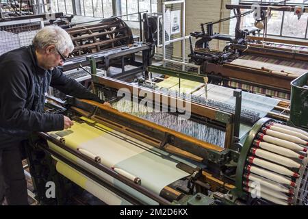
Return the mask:
[[[308,44],[305,40],[268,37],[266,23],[272,11],[296,14],[298,7],[262,3],[259,6],[226,5],[226,8],[233,10],[235,16],[203,23],[201,32],[191,33],[197,41],[194,48],[191,45],[190,62],[201,65],[201,73],[208,75],[210,83],[290,99],[291,81],[307,71]],[[255,16],[257,11],[259,17]],[[307,8],[303,7],[301,12],[307,12]],[[251,13],[255,16],[257,28],[241,29],[241,18]],[[231,18],[237,20],[235,36],[213,32],[213,25]],[[209,43],[214,39],[227,41],[223,51],[209,49]]]

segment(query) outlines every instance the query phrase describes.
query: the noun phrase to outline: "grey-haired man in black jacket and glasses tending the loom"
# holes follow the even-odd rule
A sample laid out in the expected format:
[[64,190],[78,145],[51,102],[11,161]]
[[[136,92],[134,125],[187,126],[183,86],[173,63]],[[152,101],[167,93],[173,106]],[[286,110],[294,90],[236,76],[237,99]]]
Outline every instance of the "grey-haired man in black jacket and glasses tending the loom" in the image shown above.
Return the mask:
[[[73,125],[61,114],[43,112],[49,86],[80,99],[103,103],[58,68],[74,49],[60,27],[44,27],[29,47],[0,56],[0,204],[27,205],[27,184],[20,145],[32,131],[55,131]],[[109,103],[104,103],[109,105]]]

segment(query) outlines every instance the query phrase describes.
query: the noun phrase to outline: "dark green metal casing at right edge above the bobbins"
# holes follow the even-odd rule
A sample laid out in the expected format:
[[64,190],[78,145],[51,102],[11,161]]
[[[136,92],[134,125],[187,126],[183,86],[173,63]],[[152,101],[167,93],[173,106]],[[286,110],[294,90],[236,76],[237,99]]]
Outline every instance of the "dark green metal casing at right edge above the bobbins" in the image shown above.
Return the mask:
[[291,110],[288,125],[308,131],[308,73],[291,82]]

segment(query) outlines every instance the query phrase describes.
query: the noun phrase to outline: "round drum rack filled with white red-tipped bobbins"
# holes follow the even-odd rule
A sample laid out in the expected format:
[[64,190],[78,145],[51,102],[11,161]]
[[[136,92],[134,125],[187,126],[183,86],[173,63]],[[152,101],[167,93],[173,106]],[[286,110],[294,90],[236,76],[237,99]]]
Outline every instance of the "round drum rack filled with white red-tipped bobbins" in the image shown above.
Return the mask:
[[[264,201],[278,205],[307,205],[308,158],[306,153],[298,152],[298,149],[305,151],[305,147],[300,146],[303,142],[298,139],[308,134],[286,125],[276,125],[278,129],[270,130],[269,125],[276,123],[270,118],[261,118],[251,129],[240,154],[236,186],[246,195],[255,197],[251,185],[257,182],[263,188],[259,198]],[[261,133],[268,134],[267,130],[274,136]],[[283,140],[285,135],[296,137],[292,138],[295,142]],[[300,139],[305,140],[303,138]],[[288,146],[283,145],[284,142]]]

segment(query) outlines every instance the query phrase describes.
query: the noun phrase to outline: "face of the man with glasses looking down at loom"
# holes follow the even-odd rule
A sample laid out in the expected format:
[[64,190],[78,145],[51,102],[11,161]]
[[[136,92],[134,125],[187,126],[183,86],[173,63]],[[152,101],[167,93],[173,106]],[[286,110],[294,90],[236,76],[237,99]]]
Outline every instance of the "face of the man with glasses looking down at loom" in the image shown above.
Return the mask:
[[56,66],[62,66],[64,64],[64,60],[62,59],[61,55],[66,58],[68,57],[68,50],[66,50],[64,53],[60,53],[60,51],[57,51],[55,49],[54,45],[51,45],[45,49],[44,53],[44,68],[53,70]]

